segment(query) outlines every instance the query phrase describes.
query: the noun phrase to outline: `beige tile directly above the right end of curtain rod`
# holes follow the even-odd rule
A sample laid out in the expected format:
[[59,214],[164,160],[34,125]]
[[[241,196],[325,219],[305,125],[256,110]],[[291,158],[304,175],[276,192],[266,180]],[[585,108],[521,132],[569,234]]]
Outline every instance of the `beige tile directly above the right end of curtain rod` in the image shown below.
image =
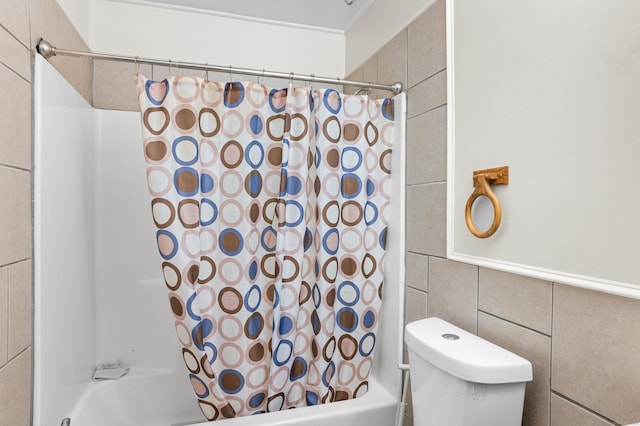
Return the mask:
[[[378,82],[391,84],[399,81],[407,86],[407,31],[400,31],[378,51]],[[390,96],[379,91],[379,98]]]

